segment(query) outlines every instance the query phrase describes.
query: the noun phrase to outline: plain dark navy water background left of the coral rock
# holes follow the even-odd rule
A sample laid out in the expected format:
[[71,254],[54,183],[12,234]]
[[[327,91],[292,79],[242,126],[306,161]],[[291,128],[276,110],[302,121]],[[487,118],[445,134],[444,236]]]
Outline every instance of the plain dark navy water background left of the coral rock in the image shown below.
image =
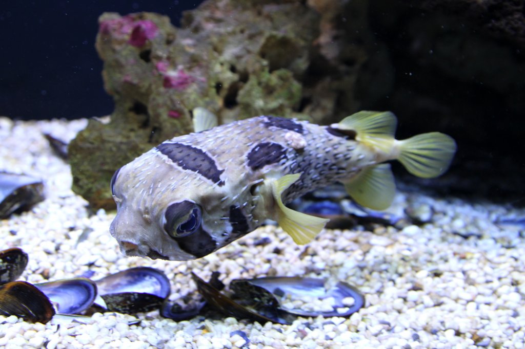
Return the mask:
[[0,8],[0,115],[14,119],[108,115],[95,50],[98,17],[157,12],[178,26],[202,1],[20,1]]

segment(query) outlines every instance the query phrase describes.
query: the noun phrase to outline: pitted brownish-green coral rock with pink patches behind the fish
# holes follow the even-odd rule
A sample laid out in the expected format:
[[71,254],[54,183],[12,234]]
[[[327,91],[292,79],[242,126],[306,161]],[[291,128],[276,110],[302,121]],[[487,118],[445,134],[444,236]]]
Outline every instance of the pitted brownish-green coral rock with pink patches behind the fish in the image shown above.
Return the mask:
[[208,1],[184,14],[182,28],[152,13],[103,14],[96,47],[115,110],[70,144],[74,191],[95,208],[113,208],[113,172],[192,132],[197,106],[221,123],[261,114],[328,123],[356,110],[349,62],[359,67],[366,54],[339,47],[355,32],[338,27],[343,4]]

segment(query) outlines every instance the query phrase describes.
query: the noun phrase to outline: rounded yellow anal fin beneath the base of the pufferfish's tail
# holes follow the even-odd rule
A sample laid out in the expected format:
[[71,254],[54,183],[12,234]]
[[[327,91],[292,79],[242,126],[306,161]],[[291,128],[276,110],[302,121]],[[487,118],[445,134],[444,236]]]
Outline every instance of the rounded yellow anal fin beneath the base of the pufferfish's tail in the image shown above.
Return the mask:
[[360,205],[373,210],[384,210],[394,200],[395,182],[390,164],[366,167],[344,187]]

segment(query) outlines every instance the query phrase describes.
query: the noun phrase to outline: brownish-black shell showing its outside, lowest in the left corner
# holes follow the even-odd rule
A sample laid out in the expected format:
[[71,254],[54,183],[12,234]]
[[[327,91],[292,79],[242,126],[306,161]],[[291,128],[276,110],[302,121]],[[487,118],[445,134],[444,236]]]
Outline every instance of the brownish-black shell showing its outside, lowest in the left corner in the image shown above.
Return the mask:
[[0,287],[0,314],[46,323],[55,315],[55,309],[35,286],[25,281],[13,281]]

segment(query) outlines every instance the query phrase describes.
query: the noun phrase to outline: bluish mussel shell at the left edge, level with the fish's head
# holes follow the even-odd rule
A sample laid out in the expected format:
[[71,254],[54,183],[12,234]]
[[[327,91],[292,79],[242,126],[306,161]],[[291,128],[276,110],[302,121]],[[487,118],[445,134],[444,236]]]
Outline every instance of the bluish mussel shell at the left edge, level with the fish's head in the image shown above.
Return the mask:
[[44,200],[44,184],[24,174],[0,172],[0,219]]

